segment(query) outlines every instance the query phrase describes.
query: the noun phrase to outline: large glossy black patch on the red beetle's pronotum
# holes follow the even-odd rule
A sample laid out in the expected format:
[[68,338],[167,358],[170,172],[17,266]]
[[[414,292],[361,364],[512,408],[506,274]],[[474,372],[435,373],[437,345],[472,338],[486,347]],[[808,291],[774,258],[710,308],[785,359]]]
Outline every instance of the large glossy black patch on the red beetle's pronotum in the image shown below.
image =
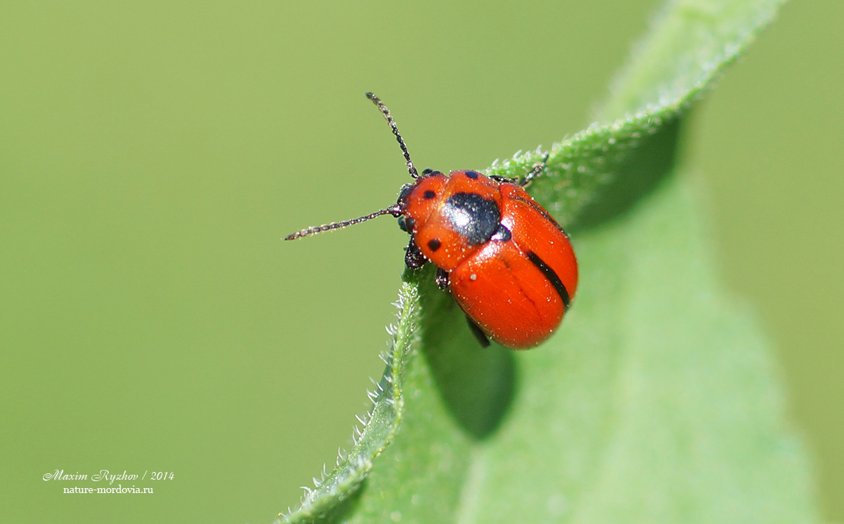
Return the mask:
[[478,246],[490,240],[501,223],[501,212],[494,200],[486,200],[478,193],[455,193],[442,206],[457,235],[463,236],[469,246]]

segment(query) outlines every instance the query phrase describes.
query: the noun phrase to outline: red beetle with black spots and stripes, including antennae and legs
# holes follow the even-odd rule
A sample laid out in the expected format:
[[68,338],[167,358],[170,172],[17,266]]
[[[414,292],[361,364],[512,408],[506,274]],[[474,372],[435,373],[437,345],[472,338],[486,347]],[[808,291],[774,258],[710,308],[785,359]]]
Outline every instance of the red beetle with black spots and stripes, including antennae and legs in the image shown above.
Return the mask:
[[577,289],[577,261],[560,224],[523,189],[545,160],[521,181],[469,170],[419,175],[390,111],[376,95],[366,96],[387,118],[415,181],[402,187],[389,208],[284,240],[392,214],[410,234],[404,262],[411,269],[426,261],[436,265],[436,284],[451,292],[482,345],[489,345],[489,337],[525,349],[549,338]]

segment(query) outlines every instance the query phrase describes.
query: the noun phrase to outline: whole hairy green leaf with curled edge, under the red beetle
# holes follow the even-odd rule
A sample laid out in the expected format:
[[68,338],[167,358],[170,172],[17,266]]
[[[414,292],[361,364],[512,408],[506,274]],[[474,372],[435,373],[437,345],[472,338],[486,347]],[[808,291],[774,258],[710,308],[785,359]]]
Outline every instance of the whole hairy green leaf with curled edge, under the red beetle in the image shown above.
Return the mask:
[[549,342],[479,348],[431,268],[405,274],[371,414],[282,520],[818,520],[764,337],[713,277],[694,185],[667,177],[684,111],[777,5],[668,3],[599,123],[552,147],[531,192],[582,277]]

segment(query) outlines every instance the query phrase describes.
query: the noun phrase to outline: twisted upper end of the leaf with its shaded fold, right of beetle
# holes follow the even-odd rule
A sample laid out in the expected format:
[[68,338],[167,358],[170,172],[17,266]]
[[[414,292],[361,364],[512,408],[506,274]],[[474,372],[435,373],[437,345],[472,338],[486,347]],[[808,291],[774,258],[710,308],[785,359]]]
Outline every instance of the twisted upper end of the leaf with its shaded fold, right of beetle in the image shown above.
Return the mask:
[[[614,81],[597,122],[551,148],[549,176],[533,183],[533,197],[572,230],[624,213],[674,165],[683,111],[771,22],[780,3],[668,2]],[[517,154],[496,162],[490,174],[522,176],[542,155]]]

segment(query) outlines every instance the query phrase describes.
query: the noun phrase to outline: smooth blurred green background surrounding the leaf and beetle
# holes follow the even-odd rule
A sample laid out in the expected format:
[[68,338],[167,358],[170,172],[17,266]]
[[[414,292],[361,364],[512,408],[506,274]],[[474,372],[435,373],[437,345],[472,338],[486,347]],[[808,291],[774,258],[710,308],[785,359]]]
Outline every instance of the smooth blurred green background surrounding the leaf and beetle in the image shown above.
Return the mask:
[[[295,505],[381,373],[402,270],[392,219],[281,241],[407,181],[364,92],[420,169],[483,169],[587,125],[656,5],[0,5],[3,520],[259,523]],[[687,148],[839,521],[842,24],[844,3],[787,4]],[[41,480],[57,468],[175,475],[72,495]]]

